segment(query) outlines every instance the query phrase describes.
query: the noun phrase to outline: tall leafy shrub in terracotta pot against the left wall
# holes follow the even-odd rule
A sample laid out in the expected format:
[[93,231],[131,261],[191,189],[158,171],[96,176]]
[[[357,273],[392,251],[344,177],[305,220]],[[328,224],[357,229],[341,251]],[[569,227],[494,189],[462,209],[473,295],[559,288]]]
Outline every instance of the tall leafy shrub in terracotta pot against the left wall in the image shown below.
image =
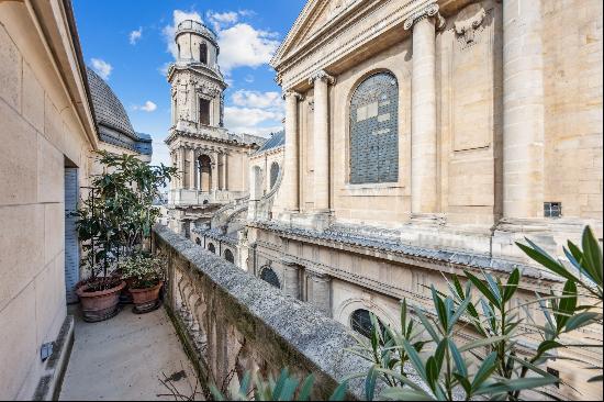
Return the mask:
[[[149,166],[132,155],[99,152],[99,156],[103,172],[93,177],[87,188],[89,197],[75,213],[83,250],[82,267],[89,272],[76,287],[76,293],[83,319],[89,322],[118,313],[120,292],[126,287],[120,260],[148,247],[150,230],[159,215],[153,201],[176,176],[176,168]],[[150,273],[149,278],[156,281]]]

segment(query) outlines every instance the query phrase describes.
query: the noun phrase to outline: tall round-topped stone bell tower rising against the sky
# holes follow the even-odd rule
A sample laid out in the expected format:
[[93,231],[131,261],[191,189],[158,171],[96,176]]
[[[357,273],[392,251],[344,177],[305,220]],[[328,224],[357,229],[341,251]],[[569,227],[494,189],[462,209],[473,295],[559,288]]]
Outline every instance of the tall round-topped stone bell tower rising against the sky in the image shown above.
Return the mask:
[[265,138],[228,133],[220,47],[214,32],[197,21],[181,22],[175,34],[178,59],[168,70],[172,126],[166,144],[180,176],[170,183],[169,226],[191,236],[224,204],[248,194],[249,156]]

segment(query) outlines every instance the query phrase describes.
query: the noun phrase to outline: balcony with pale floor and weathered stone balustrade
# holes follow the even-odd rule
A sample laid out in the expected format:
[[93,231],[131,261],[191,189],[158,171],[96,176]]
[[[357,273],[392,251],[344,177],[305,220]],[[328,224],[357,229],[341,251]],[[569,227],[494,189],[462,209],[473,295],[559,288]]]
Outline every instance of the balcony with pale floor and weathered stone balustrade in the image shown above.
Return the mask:
[[[238,388],[247,370],[277,376],[286,367],[300,378],[313,373],[312,397],[321,400],[346,376],[368,369],[345,350],[355,345],[348,330],[309,303],[165,226],[156,226],[153,250],[167,261],[165,309],[122,311],[94,324],[76,311],[61,400],[169,399],[166,381],[181,395],[191,397],[192,387],[203,399],[209,383]],[[361,381],[350,382],[348,392],[348,399],[362,399]]]

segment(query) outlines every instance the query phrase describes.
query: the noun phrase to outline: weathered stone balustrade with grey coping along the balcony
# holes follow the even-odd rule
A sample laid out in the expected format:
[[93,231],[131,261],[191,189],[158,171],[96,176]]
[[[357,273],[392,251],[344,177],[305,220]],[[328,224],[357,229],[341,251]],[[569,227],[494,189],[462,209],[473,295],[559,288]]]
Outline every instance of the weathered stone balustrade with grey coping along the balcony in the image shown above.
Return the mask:
[[[347,376],[367,372],[367,361],[345,348],[349,330],[316,308],[197,247],[166,226],[154,228],[153,249],[167,261],[165,305],[202,384],[238,387],[246,370],[278,375],[287,367],[313,373],[313,398],[325,400]],[[353,380],[349,399],[362,399]]]

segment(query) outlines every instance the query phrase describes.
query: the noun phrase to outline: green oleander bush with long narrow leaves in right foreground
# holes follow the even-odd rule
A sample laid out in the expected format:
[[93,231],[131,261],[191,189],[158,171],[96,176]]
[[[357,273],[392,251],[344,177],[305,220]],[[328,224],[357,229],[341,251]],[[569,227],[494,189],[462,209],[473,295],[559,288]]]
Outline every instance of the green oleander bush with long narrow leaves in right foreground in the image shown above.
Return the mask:
[[[588,325],[602,326],[602,248],[590,227],[581,247],[568,242],[566,263],[529,239],[517,245],[561,277],[562,289],[536,292],[534,300],[517,305],[512,301],[522,281],[518,269],[505,282],[466,270],[467,282],[454,276],[447,294],[430,287],[430,310],[403,300],[396,328],[380,327],[372,315],[371,337],[356,336],[358,345],[350,349],[372,362],[362,373],[368,400],[516,401],[530,398],[529,391],[556,398],[545,386],[560,379],[547,372],[546,364],[568,358],[557,355],[567,347],[602,347],[601,342],[571,345],[567,337]],[[543,320],[521,314],[529,309],[539,311]],[[461,343],[462,331],[474,339]],[[590,381],[602,381],[602,368],[591,368],[599,375]]]

